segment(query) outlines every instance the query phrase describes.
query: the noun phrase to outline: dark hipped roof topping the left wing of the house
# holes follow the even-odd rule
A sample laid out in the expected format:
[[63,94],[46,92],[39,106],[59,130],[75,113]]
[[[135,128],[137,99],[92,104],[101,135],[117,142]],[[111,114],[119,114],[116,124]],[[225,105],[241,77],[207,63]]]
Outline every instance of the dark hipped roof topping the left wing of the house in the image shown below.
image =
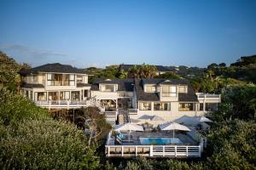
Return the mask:
[[72,65],[61,65],[60,63],[46,64],[34,67],[31,69],[32,73],[38,72],[60,72],[60,73],[79,73],[85,74],[82,69],[73,67]]

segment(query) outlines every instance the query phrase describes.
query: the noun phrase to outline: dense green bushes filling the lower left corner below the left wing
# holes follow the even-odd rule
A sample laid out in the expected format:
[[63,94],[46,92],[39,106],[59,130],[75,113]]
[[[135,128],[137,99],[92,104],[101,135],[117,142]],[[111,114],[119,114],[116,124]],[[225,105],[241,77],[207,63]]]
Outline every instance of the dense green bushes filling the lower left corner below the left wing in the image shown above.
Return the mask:
[[83,131],[55,121],[22,96],[0,88],[1,169],[98,169]]

